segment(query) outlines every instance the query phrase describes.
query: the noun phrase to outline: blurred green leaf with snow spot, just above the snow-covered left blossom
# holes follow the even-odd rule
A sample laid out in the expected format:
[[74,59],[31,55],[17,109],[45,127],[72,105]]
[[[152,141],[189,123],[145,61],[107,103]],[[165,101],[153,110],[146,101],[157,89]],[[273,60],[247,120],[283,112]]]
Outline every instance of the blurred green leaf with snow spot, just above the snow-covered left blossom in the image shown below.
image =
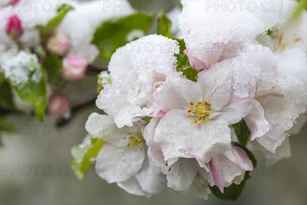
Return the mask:
[[92,44],[104,59],[111,59],[117,48],[144,36],[152,25],[153,16],[134,13],[120,18],[105,20],[96,29]]

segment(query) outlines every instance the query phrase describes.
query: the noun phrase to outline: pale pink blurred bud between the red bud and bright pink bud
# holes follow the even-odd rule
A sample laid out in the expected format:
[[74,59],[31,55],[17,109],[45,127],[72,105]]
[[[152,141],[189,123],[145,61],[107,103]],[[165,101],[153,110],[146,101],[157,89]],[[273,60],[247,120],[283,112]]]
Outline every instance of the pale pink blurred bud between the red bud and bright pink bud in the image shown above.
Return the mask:
[[69,48],[71,46],[67,34],[64,32],[55,32],[48,39],[50,44],[51,52],[57,55],[65,55],[69,53]]

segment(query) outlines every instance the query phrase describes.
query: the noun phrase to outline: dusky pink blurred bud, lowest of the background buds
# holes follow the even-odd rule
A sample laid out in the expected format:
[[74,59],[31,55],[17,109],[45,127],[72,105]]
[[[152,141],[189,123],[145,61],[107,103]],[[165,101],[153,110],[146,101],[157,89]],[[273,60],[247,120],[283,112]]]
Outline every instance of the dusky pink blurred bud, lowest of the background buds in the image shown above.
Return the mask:
[[70,100],[60,93],[54,94],[49,101],[48,114],[54,118],[60,118],[69,109]]

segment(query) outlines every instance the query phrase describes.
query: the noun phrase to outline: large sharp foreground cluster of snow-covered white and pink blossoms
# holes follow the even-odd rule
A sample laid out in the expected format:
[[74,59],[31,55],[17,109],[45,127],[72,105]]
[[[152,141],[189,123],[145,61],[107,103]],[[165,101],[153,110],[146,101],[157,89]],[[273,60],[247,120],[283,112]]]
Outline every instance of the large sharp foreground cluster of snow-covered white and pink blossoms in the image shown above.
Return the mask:
[[[182,1],[183,68],[182,47],[162,35],[117,49],[100,77],[105,114],[89,116],[79,146],[103,141],[101,178],[136,195],[193,189],[206,199],[253,170],[246,147],[270,163],[289,156],[290,129],[305,118],[307,16],[293,14],[294,1],[274,2],[274,12],[254,3],[233,12]],[[250,133],[246,146],[237,129]]]

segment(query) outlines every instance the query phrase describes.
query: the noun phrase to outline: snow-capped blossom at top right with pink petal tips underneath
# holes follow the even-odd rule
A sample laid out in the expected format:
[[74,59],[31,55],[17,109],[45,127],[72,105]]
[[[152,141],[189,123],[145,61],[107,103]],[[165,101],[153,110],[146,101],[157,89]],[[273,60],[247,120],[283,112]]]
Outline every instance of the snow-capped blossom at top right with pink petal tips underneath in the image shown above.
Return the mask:
[[[287,12],[294,6],[290,1],[274,1],[272,12],[263,9],[261,2],[251,2],[255,6],[252,11],[235,2],[232,2],[235,10],[225,10],[225,1],[222,3],[223,8],[217,8],[214,5],[217,2],[182,1],[183,11],[179,16],[181,37],[187,47],[185,54],[196,70],[208,69],[217,61],[235,57],[258,34],[286,22]],[[218,9],[221,10],[217,12]]]

